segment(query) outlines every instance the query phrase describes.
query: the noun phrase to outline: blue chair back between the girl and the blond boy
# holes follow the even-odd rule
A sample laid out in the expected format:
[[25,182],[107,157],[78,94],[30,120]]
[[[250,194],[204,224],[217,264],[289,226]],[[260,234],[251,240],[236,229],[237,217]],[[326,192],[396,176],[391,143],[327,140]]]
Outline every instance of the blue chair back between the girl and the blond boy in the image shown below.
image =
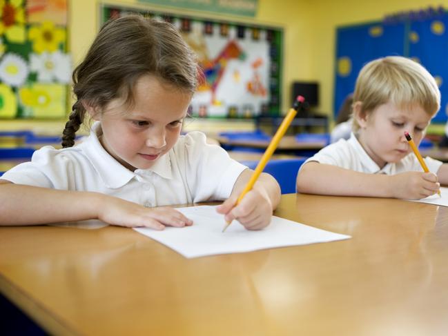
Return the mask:
[[[306,157],[270,160],[264,167],[263,172],[271,174],[277,180],[282,189],[282,194],[291,194],[295,192],[295,179],[300,166],[302,166],[305,160]],[[255,169],[258,161],[240,161],[240,163]]]

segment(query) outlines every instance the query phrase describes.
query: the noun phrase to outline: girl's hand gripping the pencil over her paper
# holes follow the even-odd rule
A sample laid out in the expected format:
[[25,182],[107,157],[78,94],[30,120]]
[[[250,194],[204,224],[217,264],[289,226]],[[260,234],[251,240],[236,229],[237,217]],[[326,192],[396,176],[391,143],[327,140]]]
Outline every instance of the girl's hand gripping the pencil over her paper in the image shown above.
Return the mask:
[[273,208],[267,195],[252,189],[237,206],[236,201],[237,195],[233,195],[217,207],[226,221],[237,219],[247,230],[260,230],[271,223]]

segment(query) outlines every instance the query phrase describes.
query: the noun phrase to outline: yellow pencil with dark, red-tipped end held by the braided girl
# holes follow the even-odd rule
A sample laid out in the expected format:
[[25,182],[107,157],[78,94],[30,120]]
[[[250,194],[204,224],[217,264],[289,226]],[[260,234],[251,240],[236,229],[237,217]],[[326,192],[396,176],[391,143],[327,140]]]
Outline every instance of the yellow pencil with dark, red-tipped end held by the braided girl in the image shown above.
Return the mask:
[[[240,203],[240,201],[243,199],[244,195],[246,195],[246,193],[252,189],[253,185],[255,184],[258,177],[262,173],[264,166],[266,166],[269,159],[271,159],[271,156],[273,155],[273,152],[275,152],[275,149],[277,148],[278,143],[284,136],[284,133],[286,133],[286,130],[288,129],[289,125],[291,124],[291,121],[293,121],[297,112],[300,110],[300,108],[302,108],[304,101],[305,101],[305,99],[302,96],[298,96],[297,99],[295,99],[293,107],[289,109],[289,112],[286,115],[286,117],[284,117],[282,124],[278,128],[277,132],[275,132],[275,135],[273,136],[273,138],[271,140],[271,144],[269,144],[268,148],[266,148],[266,151],[264,152],[262,158],[260,159],[260,162],[258,162],[258,164],[257,164],[257,168],[255,168],[255,172],[253,173],[251,179],[247,183],[246,188],[244,188],[244,190],[241,192],[240,196],[238,197],[238,199],[235,203],[235,206],[237,206]],[[230,226],[231,222],[232,221],[228,221],[226,223],[226,226],[224,226],[224,228],[222,229],[223,233],[226,230],[226,228],[228,228],[228,226]]]

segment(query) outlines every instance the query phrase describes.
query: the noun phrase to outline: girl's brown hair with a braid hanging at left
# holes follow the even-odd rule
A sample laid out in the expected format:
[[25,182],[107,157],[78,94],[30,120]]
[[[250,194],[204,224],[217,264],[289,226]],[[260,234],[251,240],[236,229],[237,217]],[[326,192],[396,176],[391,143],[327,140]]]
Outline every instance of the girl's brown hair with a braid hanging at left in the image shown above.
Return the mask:
[[111,99],[133,103],[133,88],[142,75],[155,75],[193,95],[197,87],[195,55],[171,24],[140,15],[110,19],[99,31],[82,63],[73,71],[77,101],[66,123],[62,147],[75,143],[84,122],[84,101],[104,108]]

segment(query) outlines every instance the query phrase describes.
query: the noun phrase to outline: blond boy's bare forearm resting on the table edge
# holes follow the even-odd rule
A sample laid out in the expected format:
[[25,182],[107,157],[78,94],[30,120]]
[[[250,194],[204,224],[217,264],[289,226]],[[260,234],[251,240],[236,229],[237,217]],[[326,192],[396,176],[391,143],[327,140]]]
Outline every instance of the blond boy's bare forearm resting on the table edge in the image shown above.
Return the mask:
[[297,188],[298,192],[318,195],[395,197],[392,182],[388,175],[310,162],[300,170]]

